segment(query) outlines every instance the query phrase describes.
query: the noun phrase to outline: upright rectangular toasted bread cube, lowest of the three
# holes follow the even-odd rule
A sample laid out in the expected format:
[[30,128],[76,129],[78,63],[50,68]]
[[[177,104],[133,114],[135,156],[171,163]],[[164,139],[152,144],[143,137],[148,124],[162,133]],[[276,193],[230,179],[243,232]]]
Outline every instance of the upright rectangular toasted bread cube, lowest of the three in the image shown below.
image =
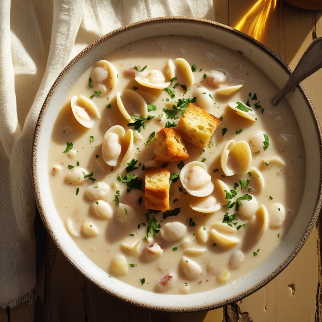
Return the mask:
[[169,210],[170,171],[164,168],[145,169],[144,206],[146,209]]

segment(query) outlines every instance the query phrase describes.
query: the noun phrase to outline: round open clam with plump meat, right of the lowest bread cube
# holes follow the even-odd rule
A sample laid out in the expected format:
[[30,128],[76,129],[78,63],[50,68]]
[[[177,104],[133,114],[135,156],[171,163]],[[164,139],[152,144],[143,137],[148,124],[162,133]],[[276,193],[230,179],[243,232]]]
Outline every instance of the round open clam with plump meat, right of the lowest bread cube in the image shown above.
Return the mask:
[[180,171],[179,178],[185,190],[193,196],[205,197],[213,192],[211,176],[203,162],[187,163]]

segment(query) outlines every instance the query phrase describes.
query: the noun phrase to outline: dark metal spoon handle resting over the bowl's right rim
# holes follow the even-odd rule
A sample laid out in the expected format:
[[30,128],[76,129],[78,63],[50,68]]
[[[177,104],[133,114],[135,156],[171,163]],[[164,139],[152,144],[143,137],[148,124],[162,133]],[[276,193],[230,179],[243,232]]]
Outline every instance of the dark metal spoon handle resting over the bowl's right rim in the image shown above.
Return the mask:
[[291,90],[293,90],[301,81],[316,72],[322,67],[322,37],[314,40],[296,65],[280,92],[272,99],[274,106]]

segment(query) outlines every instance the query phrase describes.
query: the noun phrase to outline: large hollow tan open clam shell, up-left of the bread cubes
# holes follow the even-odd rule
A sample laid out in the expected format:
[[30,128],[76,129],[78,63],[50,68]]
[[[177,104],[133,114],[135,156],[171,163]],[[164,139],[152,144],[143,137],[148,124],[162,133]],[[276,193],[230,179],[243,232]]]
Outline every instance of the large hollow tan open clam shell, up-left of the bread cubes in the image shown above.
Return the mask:
[[135,90],[125,90],[122,95],[117,92],[116,102],[119,111],[128,122],[133,122],[131,116],[147,117],[147,103]]

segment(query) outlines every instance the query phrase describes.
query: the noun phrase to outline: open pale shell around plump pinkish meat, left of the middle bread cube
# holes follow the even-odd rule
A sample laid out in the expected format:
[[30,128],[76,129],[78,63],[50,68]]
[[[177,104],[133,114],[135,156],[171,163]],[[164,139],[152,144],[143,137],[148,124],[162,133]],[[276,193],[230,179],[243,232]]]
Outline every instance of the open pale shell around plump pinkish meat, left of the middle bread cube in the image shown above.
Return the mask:
[[[121,146],[121,152],[120,154],[115,157],[111,158],[109,154],[107,153],[107,138],[109,137],[109,134],[115,133],[118,135],[118,143]],[[109,128],[103,137],[103,146],[102,146],[102,156],[106,164],[109,166],[117,166],[120,164],[121,166],[126,163],[128,158],[130,157],[133,149],[133,131],[132,129],[128,129],[128,131],[125,133],[125,129],[121,127],[120,125],[114,125],[111,128]]]

